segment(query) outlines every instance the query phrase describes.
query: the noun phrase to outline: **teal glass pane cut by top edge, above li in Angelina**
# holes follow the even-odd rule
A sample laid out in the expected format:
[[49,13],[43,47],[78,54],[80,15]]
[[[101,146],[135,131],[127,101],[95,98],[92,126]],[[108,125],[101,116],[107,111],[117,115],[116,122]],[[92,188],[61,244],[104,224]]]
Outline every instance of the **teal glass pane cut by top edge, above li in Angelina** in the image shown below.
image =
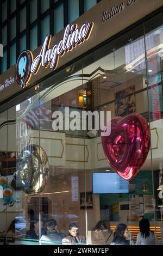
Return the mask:
[[79,17],[79,1],[68,0],[68,22],[72,22]]

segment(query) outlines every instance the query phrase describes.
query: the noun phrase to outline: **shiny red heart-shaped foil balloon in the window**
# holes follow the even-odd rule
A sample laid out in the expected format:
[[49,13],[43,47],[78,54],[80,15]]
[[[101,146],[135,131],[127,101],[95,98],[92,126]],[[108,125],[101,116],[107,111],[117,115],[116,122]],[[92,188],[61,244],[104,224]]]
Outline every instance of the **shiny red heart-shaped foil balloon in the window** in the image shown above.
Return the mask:
[[[106,124],[104,132],[109,125]],[[110,166],[123,179],[131,180],[139,172],[149,152],[149,125],[139,114],[112,118],[111,133],[109,136],[102,135],[102,145]]]

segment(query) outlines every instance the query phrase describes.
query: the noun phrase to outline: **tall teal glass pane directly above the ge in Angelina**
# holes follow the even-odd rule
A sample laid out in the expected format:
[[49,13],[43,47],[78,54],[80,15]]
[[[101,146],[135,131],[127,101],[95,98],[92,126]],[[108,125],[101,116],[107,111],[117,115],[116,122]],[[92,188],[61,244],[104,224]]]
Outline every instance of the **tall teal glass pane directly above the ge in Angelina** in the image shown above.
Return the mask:
[[54,34],[64,28],[64,4],[61,3],[54,9]]

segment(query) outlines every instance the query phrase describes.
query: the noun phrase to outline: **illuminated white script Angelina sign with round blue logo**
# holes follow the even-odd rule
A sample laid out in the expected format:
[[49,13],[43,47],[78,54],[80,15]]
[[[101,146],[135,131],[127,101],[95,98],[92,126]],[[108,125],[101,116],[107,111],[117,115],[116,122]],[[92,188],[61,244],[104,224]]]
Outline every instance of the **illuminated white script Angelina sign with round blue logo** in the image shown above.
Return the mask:
[[23,88],[27,85],[30,76],[36,74],[40,66],[55,70],[59,63],[59,58],[68,51],[88,40],[93,29],[93,22],[84,23],[78,28],[76,24],[68,24],[63,39],[58,44],[51,47],[51,35],[47,35],[43,42],[40,53],[33,59],[30,51],[23,51],[16,64],[16,81]]

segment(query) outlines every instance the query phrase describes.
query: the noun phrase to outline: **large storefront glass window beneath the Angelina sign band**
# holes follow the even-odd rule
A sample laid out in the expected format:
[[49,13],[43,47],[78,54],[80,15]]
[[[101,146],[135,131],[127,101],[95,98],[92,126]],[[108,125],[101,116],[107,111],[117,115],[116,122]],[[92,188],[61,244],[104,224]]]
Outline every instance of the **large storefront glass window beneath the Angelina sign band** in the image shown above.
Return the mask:
[[[160,20],[155,16],[53,73],[0,114],[1,175],[14,198],[3,228],[15,220],[15,243],[108,245],[124,223],[133,244],[142,218],[162,242]],[[94,113],[91,126],[85,111]],[[109,145],[101,133],[107,111],[114,122]],[[133,135],[136,145],[146,141],[139,150]],[[109,226],[95,240],[92,231]]]

